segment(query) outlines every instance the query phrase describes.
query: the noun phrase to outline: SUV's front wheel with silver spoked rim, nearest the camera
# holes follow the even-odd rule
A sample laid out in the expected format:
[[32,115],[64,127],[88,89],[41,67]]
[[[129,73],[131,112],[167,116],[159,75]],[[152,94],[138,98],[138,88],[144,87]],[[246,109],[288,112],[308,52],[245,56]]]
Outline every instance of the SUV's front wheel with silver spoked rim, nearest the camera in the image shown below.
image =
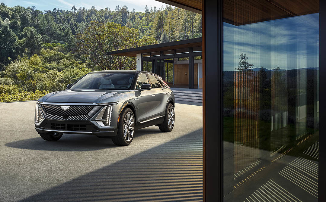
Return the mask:
[[[131,122],[126,120],[130,120],[130,114],[132,115]],[[128,118],[129,116],[129,118]],[[114,144],[119,146],[127,146],[134,139],[135,132],[135,115],[130,108],[125,108],[122,110],[118,123],[118,132],[115,137],[112,138]]]

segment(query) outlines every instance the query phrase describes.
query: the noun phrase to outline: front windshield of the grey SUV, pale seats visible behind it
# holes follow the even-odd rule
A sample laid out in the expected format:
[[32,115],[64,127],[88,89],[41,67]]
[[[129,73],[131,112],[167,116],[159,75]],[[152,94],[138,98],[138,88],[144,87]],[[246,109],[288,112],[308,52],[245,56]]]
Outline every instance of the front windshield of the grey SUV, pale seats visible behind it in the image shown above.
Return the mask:
[[130,90],[133,73],[93,73],[86,74],[69,89]]

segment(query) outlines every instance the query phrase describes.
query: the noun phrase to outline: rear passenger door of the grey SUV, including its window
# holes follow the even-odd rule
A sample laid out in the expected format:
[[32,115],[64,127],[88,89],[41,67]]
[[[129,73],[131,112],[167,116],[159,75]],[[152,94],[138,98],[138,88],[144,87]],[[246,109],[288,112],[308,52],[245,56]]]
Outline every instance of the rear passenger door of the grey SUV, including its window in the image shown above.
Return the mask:
[[165,87],[157,80],[156,76],[153,74],[147,74],[149,82],[152,85],[152,90],[155,93],[156,108],[155,114],[164,115],[166,108],[166,92],[164,91]]

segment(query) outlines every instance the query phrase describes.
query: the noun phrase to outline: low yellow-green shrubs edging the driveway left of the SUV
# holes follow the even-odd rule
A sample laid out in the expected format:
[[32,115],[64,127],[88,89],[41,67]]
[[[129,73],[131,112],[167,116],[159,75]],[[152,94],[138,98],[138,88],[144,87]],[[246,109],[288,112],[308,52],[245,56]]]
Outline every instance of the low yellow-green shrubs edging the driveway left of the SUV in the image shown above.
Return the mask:
[[38,100],[39,98],[43,97],[47,93],[49,93],[49,91],[41,92],[39,90],[35,91],[35,93],[22,91],[13,95],[10,95],[9,93],[2,93],[0,94],[0,102]]

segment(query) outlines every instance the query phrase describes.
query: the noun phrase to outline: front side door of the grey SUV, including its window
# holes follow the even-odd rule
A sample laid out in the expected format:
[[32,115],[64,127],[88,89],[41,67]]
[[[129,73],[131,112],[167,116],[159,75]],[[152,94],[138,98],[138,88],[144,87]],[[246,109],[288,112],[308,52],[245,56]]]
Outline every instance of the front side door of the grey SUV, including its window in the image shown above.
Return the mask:
[[[142,84],[150,84],[148,78],[145,73],[141,73],[138,76],[136,83],[136,90],[141,88]],[[156,98],[155,98],[155,90],[140,90],[136,92],[135,100],[138,100],[136,111],[137,111],[137,119],[138,121],[143,121],[148,118],[151,118],[154,114],[156,108]]]

